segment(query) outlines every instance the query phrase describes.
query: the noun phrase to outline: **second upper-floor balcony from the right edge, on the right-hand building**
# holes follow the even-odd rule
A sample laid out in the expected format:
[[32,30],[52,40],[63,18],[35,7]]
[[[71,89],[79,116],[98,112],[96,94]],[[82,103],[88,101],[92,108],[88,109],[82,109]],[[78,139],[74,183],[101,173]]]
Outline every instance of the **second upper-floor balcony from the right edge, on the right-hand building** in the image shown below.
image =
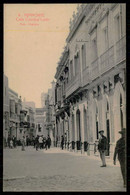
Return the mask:
[[107,72],[114,66],[114,47],[112,46],[100,56],[101,74]]

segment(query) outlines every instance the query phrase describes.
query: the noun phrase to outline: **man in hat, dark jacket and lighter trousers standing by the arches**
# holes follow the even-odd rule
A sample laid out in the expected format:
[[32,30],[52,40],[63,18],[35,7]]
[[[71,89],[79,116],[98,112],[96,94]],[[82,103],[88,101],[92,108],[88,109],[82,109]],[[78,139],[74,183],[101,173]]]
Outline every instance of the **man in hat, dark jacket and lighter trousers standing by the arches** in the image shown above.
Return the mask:
[[99,138],[99,144],[98,144],[98,150],[100,153],[100,158],[102,160],[102,166],[106,167],[106,161],[105,161],[105,150],[107,149],[107,138],[103,135],[104,131],[99,131],[100,138]]

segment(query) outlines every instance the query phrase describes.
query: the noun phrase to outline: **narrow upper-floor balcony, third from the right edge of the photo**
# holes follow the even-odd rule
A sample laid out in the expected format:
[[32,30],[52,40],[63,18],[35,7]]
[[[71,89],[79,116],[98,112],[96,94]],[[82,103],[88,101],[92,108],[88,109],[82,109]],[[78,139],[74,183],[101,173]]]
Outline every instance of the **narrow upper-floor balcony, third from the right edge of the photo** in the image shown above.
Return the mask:
[[91,63],[91,80],[96,79],[99,76],[99,59],[97,58]]

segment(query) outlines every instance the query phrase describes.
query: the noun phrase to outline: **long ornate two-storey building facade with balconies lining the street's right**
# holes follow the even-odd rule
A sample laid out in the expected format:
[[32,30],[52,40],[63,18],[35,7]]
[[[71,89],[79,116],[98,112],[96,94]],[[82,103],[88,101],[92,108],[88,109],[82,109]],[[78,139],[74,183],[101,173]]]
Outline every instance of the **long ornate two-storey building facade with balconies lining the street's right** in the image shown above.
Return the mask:
[[126,5],[83,4],[70,21],[58,63],[57,135],[71,149],[86,151],[103,129],[112,156],[118,131],[126,127]]

